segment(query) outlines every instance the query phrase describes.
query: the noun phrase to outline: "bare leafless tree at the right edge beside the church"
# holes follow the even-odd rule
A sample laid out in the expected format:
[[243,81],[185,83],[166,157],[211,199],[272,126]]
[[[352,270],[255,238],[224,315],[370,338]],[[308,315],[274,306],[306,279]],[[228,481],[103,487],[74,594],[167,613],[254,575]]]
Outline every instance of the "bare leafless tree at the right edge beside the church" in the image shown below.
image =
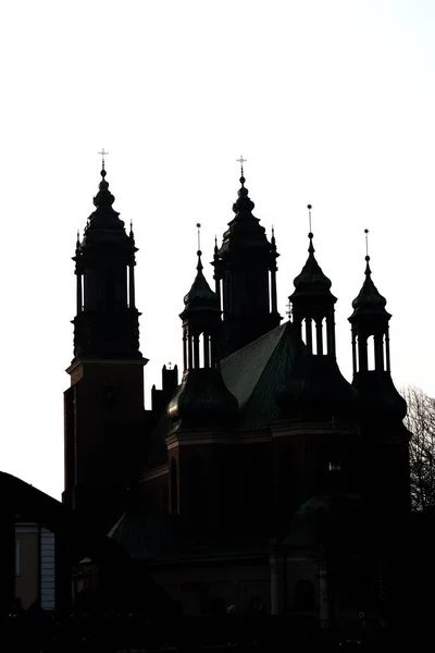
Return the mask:
[[414,510],[435,507],[435,399],[419,387],[406,387],[408,404],[405,426],[410,442],[411,505]]

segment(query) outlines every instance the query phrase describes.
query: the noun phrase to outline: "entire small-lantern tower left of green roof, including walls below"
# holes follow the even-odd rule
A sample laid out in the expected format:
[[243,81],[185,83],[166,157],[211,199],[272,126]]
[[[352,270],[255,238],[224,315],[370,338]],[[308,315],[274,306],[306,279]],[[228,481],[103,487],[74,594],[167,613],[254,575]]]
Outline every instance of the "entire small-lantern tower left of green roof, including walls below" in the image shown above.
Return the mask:
[[184,298],[183,381],[167,408],[173,429],[166,438],[170,509],[189,537],[222,527],[228,512],[225,476],[227,435],[238,403],[220,369],[222,334],[219,299],[202,273]]

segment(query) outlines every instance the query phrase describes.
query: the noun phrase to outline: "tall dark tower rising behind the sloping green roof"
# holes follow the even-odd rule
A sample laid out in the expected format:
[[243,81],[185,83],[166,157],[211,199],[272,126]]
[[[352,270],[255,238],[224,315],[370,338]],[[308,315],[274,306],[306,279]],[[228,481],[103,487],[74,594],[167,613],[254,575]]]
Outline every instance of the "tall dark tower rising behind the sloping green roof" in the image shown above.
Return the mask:
[[275,237],[271,242],[254,218],[253,201],[245,187],[244,159],[241,187],[233,205],[235,218],[228,223],[221,248],[214,248],[216,295],[223,310],[223,357],[279,325],[276,304]]

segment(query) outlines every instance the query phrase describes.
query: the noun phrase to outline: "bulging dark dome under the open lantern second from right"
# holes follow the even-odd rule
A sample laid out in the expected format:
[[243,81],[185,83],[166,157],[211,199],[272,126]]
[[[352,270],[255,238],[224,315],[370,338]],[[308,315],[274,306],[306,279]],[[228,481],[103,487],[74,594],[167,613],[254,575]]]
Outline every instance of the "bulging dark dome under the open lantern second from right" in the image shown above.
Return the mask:
[[316,421],[346,419],[358,409],[358,392],[341,374],[335,357],[302,355],[277,389],[281,416]]

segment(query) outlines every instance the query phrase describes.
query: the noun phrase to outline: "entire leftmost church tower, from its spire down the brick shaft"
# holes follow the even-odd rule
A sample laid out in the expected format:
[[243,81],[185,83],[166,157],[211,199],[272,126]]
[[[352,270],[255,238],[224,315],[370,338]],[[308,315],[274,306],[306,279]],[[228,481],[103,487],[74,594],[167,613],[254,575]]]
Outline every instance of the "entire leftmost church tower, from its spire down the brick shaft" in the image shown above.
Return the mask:
[[144,439],[144,366],[135,303],[133,231],[113,209],[102,161],[96,210],[77,238],[74,359],[64,393],[63,502],[113,526]]

